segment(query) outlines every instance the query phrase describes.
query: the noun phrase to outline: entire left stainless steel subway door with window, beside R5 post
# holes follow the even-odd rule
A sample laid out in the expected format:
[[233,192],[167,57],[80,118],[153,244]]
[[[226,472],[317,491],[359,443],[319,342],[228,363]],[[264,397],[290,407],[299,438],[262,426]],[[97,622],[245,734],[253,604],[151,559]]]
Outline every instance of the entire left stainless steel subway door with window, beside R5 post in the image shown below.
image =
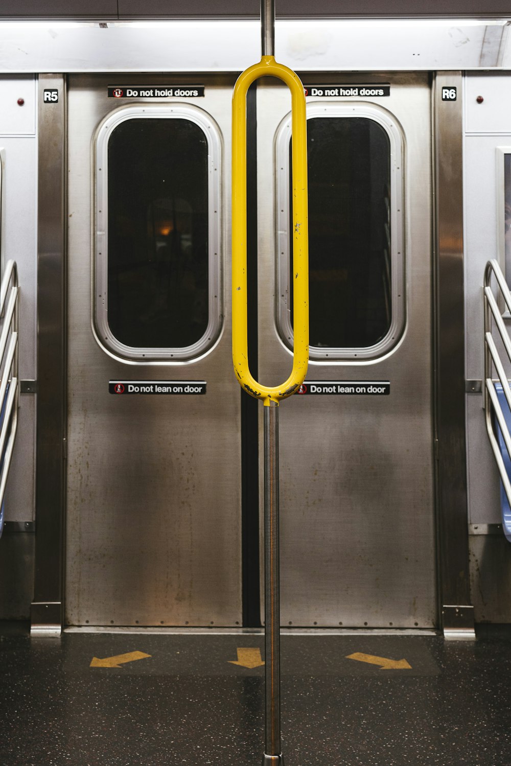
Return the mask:
[[70,625],[241,623],[232,85],[69,80]]

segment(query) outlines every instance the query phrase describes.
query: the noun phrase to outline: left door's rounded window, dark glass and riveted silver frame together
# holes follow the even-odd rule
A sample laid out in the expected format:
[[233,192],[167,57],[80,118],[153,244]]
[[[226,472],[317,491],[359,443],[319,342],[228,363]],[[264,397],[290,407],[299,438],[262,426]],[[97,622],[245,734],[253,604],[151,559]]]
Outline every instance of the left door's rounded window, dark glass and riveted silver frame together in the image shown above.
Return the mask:
[[219,150],[193,106],[130,107],[100,126],[94,319],[115,355],[192,359],[218,337]]

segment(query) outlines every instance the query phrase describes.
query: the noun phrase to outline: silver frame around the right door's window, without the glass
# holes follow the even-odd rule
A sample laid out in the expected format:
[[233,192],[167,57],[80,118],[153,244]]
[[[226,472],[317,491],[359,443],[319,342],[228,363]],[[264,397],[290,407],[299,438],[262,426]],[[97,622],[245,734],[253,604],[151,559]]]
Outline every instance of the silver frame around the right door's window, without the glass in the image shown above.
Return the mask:
[[[365,117],[381,125],[390,142],[391,179],[391,326],[381,341],[364,349],[310,346],[310,359],[355,362],[382,357],[399,341],[405,328],[405,237],[403,231],[405,195],[403,189],[403,139],[397,121],[387,111],[369,103],[308,103],[307,119],[315,117]],[[277,168],[277,329],[287,348],[293,348],[290,321],[290,237],[289,237],[289,145],[291,117],[288,115],[277,131],[275,155]]]

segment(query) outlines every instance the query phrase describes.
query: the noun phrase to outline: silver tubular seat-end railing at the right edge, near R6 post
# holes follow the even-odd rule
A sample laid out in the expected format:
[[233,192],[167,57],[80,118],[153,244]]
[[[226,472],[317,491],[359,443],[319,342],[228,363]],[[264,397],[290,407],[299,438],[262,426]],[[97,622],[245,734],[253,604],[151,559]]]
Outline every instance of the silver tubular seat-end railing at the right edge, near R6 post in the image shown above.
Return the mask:
[[[504,444],[509,456],[511,456],[511,435],[509,434],[509,428],[506,424],[506,417],[503,413],[503,409],[500,406],[500,401],[496,393],[496,388],[493,381],[493,367],[496,369],[500,385],[502,386],[503,394],[506,398],[507,406],[511,411],[511,388],[509,387],[509,380],[504,369],[502,359],[498,349],[496,348],[495,341],[493,340],[492,330],[493,322],[495,322],[496,329],[499,332],[500,339],[503,343],[506,351],[509,363],[511,363],[511,340],[509,339],[509,333],[504,324],[502,314],[491,286],[492,277],[495,277],[497,286],[503,297],[504,303],[508,311],[511,313],[511,291],[507,286],[506,279],[500,268],[498,261],[493,258],[486,264],[484,270],[484,285],[483,285],[483,301],[484,301],[484,408],[486,418],[486,432],[490,439],[490,445],[493,450],[493,457],[495,457],[496,465],[500,473],[500,480],[503,483],[504,493],[506,494],[509,508],[511,508],[511,481],[507,474],[506,466],[502,457],[499,443],[496,439],[496,435],[493,430],[492,423],[492,409],[495,413],[496,421],[499,425],[500,432],[503,436]],[[502,509],[503,515],[503,532],[506,539],[511,542],[511,517],[509,513],[506,513],[505,509]]]

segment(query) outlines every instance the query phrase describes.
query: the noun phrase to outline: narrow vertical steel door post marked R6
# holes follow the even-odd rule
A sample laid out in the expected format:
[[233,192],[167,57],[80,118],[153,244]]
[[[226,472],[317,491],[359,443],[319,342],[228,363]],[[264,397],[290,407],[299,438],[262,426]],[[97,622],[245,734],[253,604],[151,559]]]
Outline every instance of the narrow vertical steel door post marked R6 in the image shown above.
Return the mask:
[[[456,87],[444,101],[442,87]],[[473,634],[473,618],[457,626],[451,607],[470,604],[464,355],[463,89],[460,74],[434,82],[436,188],[436,431],[441,598],[444,631]],[[467,610],[465,610],[467,612]],[[450,624],[447,624],[447,615]],[[454,622],[453,622],[454,620]]]

